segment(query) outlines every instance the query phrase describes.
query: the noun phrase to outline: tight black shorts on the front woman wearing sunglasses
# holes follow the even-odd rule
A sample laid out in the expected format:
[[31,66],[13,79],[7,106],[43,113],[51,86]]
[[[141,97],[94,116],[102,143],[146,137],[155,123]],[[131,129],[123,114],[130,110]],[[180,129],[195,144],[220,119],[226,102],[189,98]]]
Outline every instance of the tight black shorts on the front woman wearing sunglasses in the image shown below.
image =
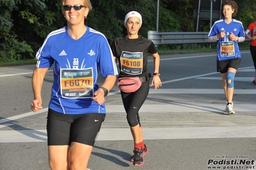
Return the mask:
[[94,146],[106,114],[62,114],[49,109],[47,142],[49,145],[69,145],[78,142]]

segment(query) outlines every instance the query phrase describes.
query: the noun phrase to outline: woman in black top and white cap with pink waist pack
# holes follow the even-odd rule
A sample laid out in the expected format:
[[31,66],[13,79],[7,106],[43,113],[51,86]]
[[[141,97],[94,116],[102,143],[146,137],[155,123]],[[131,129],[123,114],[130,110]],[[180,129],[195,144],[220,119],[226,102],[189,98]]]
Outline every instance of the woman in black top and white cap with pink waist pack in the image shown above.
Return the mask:
[[[119,86],[124,109],[127,114],[126,118],[134,141],[134,155],[130,159],[134,166],[144,164],[144,155],[149,151],[143,141],[142,127],[139,120],[139,109],[149,93],[151,74],[148,73],[147,69],[148,53],[152,54],[154,59],[154,73],[151,86],[154,85],[155,89],[162,86],[159,77],[160,57],[154,43],[138,35],[141,24],[141,12],[139,10],[130,10],[124,19],[127,35],[115,38],[111,46],[115,61],[117,62],[117,59],[119,61],[119,83],[123,82],[121,79],[127,78],[128,82],[135,81],[130,84],[123,82],[123,85]],[[133,89],[130,85],[137,86],[138,89]]]

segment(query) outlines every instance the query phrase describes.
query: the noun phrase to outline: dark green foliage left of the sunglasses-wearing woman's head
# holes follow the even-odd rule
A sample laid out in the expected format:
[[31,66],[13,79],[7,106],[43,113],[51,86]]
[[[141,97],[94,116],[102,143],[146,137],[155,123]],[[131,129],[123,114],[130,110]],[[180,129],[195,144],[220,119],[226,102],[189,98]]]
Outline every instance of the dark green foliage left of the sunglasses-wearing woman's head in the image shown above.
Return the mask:
[[0,1],[0,61],[34,58],[46,35],[64,26],[60,1]]

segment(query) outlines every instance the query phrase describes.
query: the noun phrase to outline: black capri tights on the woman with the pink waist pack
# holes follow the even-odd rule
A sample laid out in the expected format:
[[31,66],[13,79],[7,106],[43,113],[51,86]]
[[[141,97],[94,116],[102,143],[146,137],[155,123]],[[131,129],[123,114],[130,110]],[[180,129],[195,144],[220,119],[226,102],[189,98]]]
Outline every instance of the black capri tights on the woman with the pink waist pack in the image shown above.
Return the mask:
[[148,97],[149,81],[141,84],[141,88],[133,93],[124,93],[121,91],[124,109],[126,111],[126,119],[130,127],[135,127],[138,124],[141,126],[139,118],[139,109]]

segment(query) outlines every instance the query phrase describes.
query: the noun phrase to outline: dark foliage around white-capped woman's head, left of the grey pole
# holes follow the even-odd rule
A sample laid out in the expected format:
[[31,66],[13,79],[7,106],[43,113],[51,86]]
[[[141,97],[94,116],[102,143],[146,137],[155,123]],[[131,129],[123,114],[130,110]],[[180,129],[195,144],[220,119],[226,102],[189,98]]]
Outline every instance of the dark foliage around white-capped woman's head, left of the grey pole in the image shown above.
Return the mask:
[[148,30],[156,23],[157,3],[154,0],[95,0],[92,1],[92,12],[89,13],[86,24],[105,34],[111,42],[117,36],[126,33],[124,17],[130,9],[142,12],[142,27],[140,34],[148,36]]

